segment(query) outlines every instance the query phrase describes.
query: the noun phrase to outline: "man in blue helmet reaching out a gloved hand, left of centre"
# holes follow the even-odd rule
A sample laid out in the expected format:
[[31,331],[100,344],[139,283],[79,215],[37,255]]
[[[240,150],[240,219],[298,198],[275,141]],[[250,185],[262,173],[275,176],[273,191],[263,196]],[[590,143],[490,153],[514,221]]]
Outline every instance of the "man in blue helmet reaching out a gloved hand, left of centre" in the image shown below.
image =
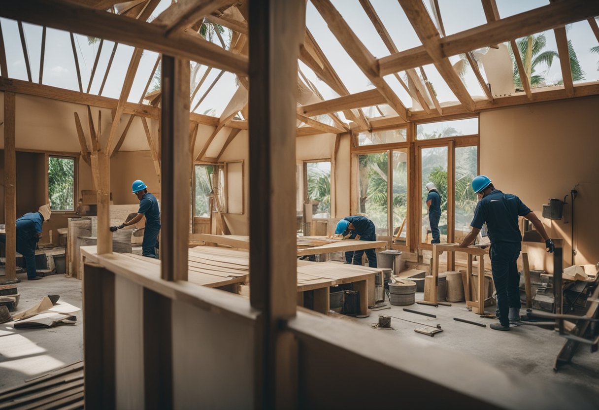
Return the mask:
[[158,200],[147,190],[146,184],[137,179],[131,185],[131,190],[140,200],[140,209],[137,211],[137,216],[132,219],[127,218],[127,221],[120,224],[118,227],[110,227],[111,231],[135,225],[141,221],[141,218],[146,216],[146,228],[144,230],[144,240],[141,243],[142,255],[149,258],[158,258],[156,248],[158,248],[158,234],[160,233],[160,209],[158,208]]

